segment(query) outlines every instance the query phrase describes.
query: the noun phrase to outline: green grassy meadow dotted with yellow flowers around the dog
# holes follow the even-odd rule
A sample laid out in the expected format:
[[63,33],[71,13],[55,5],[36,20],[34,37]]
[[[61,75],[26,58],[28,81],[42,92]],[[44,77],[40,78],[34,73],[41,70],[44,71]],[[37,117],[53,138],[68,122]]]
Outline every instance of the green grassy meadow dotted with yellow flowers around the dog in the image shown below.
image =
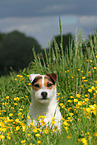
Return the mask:
[[[61,50],[54,40],[42,54],[34,53],[34,62],[20,71],[0,78],[0,145],[97,145],[97,34],[87,44],[82,33],[75,34],[74,44],[64,54],[60,23]],[[86,53],[83,53],[83,46]],[[57,101],[62,113],[61,133],[46,127],[45,116],[38,125],[27,126],[31,102],[31,73],[57,73]],[[42,128],[41,128],[42,126]]]

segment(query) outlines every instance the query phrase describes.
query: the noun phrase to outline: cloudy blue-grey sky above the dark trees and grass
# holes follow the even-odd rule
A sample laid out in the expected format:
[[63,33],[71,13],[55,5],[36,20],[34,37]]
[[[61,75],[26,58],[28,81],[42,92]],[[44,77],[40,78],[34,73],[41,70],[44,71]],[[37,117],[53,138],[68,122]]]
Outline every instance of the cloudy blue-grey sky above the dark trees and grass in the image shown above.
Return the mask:
[[97,29],[97,0],[0,0],[0,32],[18,30],[48,48],[53,37],[80,33],[85,37]]

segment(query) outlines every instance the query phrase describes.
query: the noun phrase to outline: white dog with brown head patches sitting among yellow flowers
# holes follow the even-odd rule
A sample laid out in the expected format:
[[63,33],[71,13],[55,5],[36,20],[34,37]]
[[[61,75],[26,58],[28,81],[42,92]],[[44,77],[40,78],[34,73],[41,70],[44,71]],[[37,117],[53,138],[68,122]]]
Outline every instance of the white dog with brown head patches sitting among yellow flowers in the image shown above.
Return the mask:
[[[56,80],[57,74],[31,74],[31,104],[28,116],[31,115],[33,122],[37,125],[37,115],[46,116],[44,122],[46,125],[50,124],[52,118],[55,120],[55,126],[60,130],[61,128],[61,112],[58,109]],[[28,126],[32,122],[27,120]]]

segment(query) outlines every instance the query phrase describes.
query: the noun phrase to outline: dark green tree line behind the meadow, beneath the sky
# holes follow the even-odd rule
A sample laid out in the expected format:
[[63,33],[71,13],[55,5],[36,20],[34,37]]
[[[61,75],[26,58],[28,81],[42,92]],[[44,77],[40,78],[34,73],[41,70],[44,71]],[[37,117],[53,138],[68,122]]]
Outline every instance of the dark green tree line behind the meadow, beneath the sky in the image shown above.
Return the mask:
[[[92,36],[93,37],[93,36]],[[93,38],[92,38],[93,39]],[[54,49],[54,41],[60,47],[61,37],[55,36],[51,42],[51,48]],[[68,33],[63,35],[63,51],[64,54],[69,54],[69,46],[74,44],[73,35]],[[87,41],[88,45],[89,41]],[[27,37],[24,33],[13,31],[10,33],[0,33],[0,76],[8,74],[11,68],[14,71],[19,71],[29,65],[34,60],[32,48],[35,49],[36,54],[44,51],[38,41],[33,37]],[[85,52],[85,45],[83,43],[83,53]],[[48,51],[48,49],[46,49]]]

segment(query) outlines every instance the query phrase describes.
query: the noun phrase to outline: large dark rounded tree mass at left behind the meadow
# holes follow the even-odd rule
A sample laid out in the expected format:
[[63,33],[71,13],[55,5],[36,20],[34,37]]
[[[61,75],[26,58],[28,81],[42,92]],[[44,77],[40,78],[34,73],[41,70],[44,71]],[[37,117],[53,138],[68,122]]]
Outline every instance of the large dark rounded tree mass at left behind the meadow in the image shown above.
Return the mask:
[[31,37],[23,33],[13,31],[8,34],[0,34],[0,75],[8,74],[13,69],[19,71],[28,66],[34,59],[32,48],[40,53],[41,46]]

